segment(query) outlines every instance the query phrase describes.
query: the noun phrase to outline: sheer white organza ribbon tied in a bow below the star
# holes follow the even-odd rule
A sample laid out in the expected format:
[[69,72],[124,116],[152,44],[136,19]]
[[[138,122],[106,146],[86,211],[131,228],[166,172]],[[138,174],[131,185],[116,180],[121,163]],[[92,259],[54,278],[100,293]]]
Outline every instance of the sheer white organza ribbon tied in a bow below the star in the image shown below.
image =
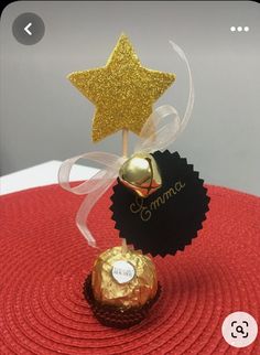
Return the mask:
[[[143,126],[142,131],[140,133],[141,138],[136,144],[134,152],[151,153],[156,150],[165,149],[184,130],[192,115],[194,104],[194,86],[191,67],[182,49],[172,41],[170,41],[170,43],[173,50],[184,61],[188,71],[189,92],[186,110],[183,116],[183,119],[181,119],[177,114],[177,110],[173,106],[163,105],[158,107],[151,114],[145,125]],[[164,125],[161,125],[161,121],[166,117],[170,117],[171,120]],[[72,187],[69,184],[69,174],[73,169],[73,165],[79,159],[87,159],[97,162],[105,168],[98,171],[91,179]],[[126,159],[127,158],[122,158],[107,152],[88,152],[65,160],[59,168],[59,185],[74,194],[87,195],[77,212],[76,224],[78,229],[91,247],[97,246],[96,239],[93,237],[90,230],[87,227],[87,217],[93,206],[99,200],[99,197],[111,186],[111,184],[117,179],[119,169],[126,161]]]

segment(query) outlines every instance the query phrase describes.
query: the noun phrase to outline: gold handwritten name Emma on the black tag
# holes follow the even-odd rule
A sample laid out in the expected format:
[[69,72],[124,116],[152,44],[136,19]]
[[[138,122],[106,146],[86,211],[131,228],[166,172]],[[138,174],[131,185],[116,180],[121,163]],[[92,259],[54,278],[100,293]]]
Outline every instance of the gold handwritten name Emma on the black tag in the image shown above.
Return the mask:
[[138,213],[143,222],[148,222],[152,217],[152,213],[154,211],[159,209],[167,202],[167,200],[172,198],[184,187],[185,183],[177,181],[172,187],[165,191],[162,195],[158,196],[147,206],[144,205],[144,198],[137,196],[136,202],[130,204],[130,211],[134,214]]

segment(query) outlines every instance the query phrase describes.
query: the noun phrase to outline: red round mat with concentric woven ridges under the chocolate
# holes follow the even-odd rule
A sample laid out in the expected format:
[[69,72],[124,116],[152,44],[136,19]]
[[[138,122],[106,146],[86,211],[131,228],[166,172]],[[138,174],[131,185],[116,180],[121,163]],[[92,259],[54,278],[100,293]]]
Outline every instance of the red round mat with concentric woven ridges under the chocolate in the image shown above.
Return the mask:
[[[75,226],[82,197],[57,185],[2,196],[0,354],[260,354],[259,336],[239,349],[220,331],[235,311],[260,321],[260,198],[209,195],[199,237],[154,259],[162,294],[149,318],[123,331],[100,325],[82,294],[100,252]],[[120,243],[109,205],[107,193],[90,215],[101,250]]]

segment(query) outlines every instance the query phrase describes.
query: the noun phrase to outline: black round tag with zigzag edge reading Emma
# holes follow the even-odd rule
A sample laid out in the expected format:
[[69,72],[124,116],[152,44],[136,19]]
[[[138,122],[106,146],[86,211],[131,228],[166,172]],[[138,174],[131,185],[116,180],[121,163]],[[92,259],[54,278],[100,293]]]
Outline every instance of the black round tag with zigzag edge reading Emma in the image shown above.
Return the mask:
[[164,257],[192,244],[203,228],[209,197],[204,181],[185,158],[169,150],[152,155],[161,172],[162,186],[142,198],[118,179],[110,209],[115,227],[127,244],[143,254]]

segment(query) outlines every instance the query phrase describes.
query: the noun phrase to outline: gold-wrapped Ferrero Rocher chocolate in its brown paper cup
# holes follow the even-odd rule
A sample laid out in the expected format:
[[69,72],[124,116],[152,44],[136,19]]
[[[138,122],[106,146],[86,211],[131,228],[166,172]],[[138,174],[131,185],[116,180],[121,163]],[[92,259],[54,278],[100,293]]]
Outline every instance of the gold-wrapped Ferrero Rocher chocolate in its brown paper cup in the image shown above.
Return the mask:
[[101,324],[127,329],[148,315],[161,287],[152,260],[141,251],[121,246],[98,257],[83,292]]

